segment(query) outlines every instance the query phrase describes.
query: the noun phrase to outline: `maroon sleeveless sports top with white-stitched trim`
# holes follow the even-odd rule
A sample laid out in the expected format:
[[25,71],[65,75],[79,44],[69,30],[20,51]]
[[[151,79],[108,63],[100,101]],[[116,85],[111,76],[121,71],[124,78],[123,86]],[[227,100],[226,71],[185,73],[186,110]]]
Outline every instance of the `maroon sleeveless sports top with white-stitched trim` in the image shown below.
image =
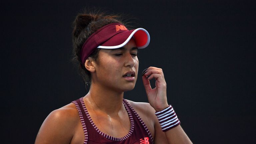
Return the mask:
[[131,128],[128,134],[120,138],[109,136],[96,127],[85,107],[83,98],[72,103],[76,105],[84,129],[84,144],[153,144],[153,137],[147,126],[125,99],[123,99],[123,104],[129,115]]

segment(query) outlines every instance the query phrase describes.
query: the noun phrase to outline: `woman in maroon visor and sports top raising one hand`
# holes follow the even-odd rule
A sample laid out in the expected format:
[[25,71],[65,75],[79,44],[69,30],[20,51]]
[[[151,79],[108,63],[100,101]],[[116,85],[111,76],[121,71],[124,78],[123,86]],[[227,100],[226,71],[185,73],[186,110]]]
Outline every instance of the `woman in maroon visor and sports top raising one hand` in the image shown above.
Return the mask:
[[[162,69],[149,67],[142,72],[149,103],[123,99],[124,91],[135,86],[137,52],[148,46],[148,32],[128,30],[117,16],[105,14],[78,14],[74,25],[73,52],[90,90],[52,111],[35,143],[191,143],[167,103]],[[151,79],[156,80],[153,89]]]

